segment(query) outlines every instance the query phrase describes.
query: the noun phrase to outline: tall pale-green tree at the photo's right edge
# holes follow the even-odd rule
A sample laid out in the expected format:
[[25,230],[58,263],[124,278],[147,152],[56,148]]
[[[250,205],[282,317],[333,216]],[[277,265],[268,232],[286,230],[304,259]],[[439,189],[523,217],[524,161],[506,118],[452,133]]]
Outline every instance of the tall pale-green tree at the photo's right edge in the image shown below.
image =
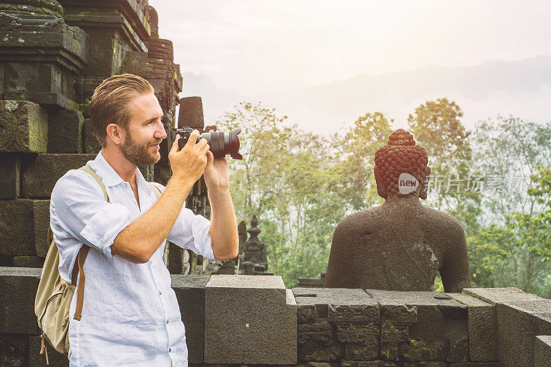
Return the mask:
[[[475,166],[487,185],[481,202],[485,227],[468,238],[479,286],[551,295],[550,137],[551,124],[512,116],[481,121],[475,129]],[[488,178],[500,185],[489,187]]]

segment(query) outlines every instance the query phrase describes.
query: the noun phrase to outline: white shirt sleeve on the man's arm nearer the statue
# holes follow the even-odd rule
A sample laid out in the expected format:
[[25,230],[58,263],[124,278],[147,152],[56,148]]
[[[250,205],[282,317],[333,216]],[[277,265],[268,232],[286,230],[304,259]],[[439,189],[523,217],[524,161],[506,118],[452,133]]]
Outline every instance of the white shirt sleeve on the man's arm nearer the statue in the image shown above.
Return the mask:
[[[154,185],[165,191],[165,187],[157,182]],[[214,259],[214,251],[212,250],[211,240],[211,222],[203,216],[194,214],[193,211],[187,209],[183,205],[178,214],[178,218],[174,223],[167,240],[187,250],[194,251],[198,255],[202,255],[207,259]]]

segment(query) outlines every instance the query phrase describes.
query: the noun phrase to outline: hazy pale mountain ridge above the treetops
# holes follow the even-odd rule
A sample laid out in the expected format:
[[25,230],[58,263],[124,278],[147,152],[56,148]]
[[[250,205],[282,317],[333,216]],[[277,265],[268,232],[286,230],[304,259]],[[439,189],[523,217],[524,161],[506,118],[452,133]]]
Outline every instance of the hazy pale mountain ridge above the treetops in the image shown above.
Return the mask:
[[395,118],[396,127],[405,127],[407,115],[415,107],[443,96],[464,110],[467,127],[497,114],[551,119],[551,56],[359,74],[342,81],[256,95],[236,91],[238,86],[236,90],[224,90],[205,75],[185,73],[184,83],[186,94],[190,91],[202,96],[207,120],[214,120],[240,101],[262,101],[312,131],[335,132],[374,111]]

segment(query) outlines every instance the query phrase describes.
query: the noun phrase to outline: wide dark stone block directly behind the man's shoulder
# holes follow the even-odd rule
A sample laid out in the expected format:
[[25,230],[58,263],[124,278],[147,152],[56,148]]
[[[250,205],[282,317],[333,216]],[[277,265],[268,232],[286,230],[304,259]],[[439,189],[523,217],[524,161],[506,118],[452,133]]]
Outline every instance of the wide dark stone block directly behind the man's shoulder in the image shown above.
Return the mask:
[[61,176],[95,158],[96,154],[39,154],[23,172],[21,196],[50,198]]

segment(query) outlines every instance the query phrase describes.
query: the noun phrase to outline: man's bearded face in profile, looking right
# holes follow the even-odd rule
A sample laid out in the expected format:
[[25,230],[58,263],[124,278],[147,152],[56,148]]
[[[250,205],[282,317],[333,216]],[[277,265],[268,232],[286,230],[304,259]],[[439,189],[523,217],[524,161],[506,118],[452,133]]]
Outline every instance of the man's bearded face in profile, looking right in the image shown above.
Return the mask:
[[121,145],[123,156],[133,165],[153,165],[160,159],[159,144],[167,137],[160,121],[163,109],[154,94],[142,94],[130,101],[127,135]]

